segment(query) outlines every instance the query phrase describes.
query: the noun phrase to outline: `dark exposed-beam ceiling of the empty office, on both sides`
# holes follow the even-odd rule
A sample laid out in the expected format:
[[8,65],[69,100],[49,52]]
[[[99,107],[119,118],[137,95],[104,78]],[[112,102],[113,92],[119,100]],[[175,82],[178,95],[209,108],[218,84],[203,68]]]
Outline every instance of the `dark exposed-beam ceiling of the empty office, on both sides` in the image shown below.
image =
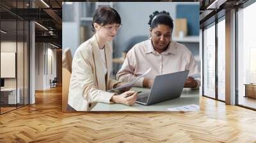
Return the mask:
[[[60,45],[62,36],[62,2],[68,0],[1,0],[0,17],[1,28],[16,34],[15,20],[35,20],[36,41],[51,42]],[[72,0],[70,0],[72,1]],[[76,0],[83,1],[83,0]],[[104,0],[102,0],[104,1]],[[181,0],[161,0],[180,2]],[[228,10],[239,6],[248,0],[182,0],[182,2],[200,3],[200,26],[221,10]],[[30,2],[30,3],[29,3]],[[33,6],[33,8],[32,8]],[[224,12],[225,13],[225,12]],[[14,20],[14,21],[13,21]],[[4,21],[4,22],[3,22]],[[41,26],[40,26],[40,25]],[[18,24],[19,25],[19,24]],[[42,27],[44,26],[44,27]],[[19,26],[18,26],[19,27]],[[22,34],[22,27],[17,33]],[[19,36],[18,36],[19,37]]]

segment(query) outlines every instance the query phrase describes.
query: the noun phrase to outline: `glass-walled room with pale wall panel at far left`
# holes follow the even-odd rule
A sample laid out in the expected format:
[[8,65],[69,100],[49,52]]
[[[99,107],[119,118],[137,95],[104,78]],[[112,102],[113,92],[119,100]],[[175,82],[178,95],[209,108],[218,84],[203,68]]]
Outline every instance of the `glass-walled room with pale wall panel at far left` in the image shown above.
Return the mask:
[[[23,8],[22,4],[17,6]],[[0,11],[6,12],[3,8]],[[13,14],[8,18],[2,15],[0,27],[0,113],[3,113],[29,103],[29,23]]]

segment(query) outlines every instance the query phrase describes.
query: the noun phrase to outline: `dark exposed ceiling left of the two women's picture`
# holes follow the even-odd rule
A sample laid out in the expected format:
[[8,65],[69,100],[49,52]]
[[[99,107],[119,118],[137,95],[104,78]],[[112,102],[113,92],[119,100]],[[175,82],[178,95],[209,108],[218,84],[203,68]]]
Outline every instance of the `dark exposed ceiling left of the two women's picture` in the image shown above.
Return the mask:
[[[51,42],[61,47],[61,4],[62,1],[60,0],[1,0],[1,29],[8,32],[2,36],[2,39],[4,37],[10,40],[16,38],[16,36],[19,39],[19,37],[24,35],[23,21],[32,20],[36,22],[36,41]],[[18,21],[17,24],[16,20]],[[19,22],[19,20],[22,22]],[[25,32],[27,30],[28,29],[25,28]],[[2,34],[3,33],[1,33],[1,35]]]

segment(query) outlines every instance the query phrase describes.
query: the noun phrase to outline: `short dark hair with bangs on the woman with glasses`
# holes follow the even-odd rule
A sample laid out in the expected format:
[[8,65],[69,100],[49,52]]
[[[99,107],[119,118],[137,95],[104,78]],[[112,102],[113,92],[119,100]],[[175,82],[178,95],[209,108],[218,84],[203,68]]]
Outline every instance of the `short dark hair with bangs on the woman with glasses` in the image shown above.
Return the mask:
[[92,31],[95,31],[93,23],[102,24],[121,24],[121,18],[118,12],[109,6],[100,6],[93,15]]

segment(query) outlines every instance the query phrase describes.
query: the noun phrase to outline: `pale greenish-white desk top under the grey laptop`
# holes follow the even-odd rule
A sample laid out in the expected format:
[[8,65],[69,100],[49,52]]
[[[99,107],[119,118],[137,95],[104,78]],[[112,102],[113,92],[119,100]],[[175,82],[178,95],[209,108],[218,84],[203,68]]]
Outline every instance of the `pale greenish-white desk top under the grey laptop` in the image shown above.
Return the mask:
[[[134,87],[132,90],[147,92],[150,89]],[[138,103],[134,103],[132,106],[117,103],[97,103],[97,105],[93,107],[92,111],[168,111],[168,108],[191,104],[199,105],[199,89],[183,89],[180,98],[175,98],[173,100],[168,100],[166,102],[156,103],[148,106],[140,105]]]

